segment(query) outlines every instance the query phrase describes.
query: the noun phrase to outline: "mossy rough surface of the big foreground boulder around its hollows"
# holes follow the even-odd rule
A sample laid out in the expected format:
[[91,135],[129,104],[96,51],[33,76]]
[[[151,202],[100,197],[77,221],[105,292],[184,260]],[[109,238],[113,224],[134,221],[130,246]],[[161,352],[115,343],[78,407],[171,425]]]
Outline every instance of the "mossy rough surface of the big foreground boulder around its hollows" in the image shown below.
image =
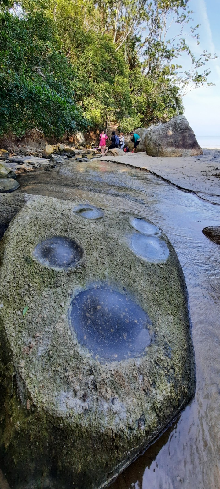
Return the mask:
[[[15,489],[106,487],[194,395],[187,293],[172,245],[157,233],[169,257],[150,263],[131,249],[130,214],[85,219],[78,204],[32,196],[0,242],[0,459]],[[36,246],[59,236],[76,243],[77,259],[64,253],[65,268],[39,263]],[[74,308],[92,288],[139,308],[134,321],[149,318],[150,344],[145,337],[142,351],[128,348],[118,361],[78,341]],[[102,300],[96,305],[100,313]],[[116,312],[118,325],[130,325]]]

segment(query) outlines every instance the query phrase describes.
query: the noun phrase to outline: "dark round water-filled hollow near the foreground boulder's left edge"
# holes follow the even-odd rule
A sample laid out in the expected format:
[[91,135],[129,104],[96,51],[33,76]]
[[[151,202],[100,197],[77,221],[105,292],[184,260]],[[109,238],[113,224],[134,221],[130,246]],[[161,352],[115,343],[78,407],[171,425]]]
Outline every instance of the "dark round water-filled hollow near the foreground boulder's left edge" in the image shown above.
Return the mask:
[[35,258],[45,267],[73,268],[83,257],[83,248],[74,240],[63,236],[53,236],[37,244]]

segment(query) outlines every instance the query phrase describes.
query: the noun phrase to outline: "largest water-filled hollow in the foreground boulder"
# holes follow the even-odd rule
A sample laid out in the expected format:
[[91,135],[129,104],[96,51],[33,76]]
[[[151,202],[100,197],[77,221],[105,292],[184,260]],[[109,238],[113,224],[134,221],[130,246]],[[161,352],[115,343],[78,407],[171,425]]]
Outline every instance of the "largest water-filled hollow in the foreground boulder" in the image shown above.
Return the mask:
[[148,314],[131,298],[105,286],[83,290],[71,303],[70,329],[100,361],[140,356],[151,343]]

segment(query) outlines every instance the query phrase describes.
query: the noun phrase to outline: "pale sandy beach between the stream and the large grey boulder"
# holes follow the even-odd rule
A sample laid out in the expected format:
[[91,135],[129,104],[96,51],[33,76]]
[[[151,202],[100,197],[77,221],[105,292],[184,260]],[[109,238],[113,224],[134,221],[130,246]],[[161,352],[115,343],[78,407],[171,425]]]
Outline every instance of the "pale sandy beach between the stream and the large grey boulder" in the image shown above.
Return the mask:
[[153,158],[146,153],[128,153],[121,157],[105,156],[101,160],[149,171],[182,190],[220,205],[220,149],[204,149],[203,155],[191,157]]

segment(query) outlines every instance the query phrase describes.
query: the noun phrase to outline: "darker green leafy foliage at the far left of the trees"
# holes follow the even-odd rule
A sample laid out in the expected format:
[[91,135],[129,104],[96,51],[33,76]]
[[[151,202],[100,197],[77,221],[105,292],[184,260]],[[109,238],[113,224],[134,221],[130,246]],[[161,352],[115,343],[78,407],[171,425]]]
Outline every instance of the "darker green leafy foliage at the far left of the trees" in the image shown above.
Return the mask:
[[74,98],[74,78],[44,13],[22,18],[0,13],[0,134],[21,136],[38,128],[61,137],[86,129]]

